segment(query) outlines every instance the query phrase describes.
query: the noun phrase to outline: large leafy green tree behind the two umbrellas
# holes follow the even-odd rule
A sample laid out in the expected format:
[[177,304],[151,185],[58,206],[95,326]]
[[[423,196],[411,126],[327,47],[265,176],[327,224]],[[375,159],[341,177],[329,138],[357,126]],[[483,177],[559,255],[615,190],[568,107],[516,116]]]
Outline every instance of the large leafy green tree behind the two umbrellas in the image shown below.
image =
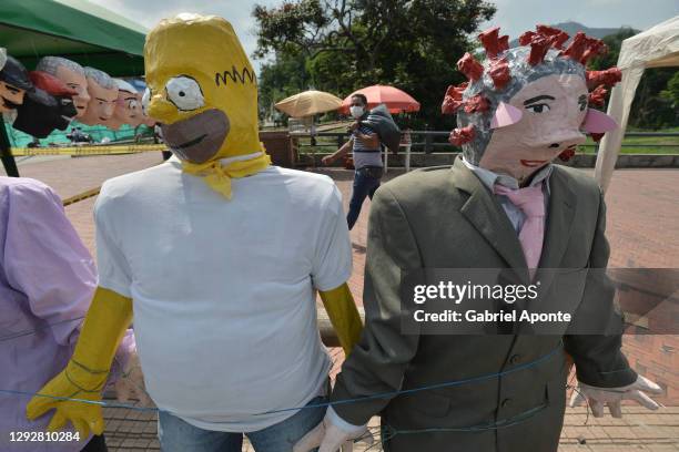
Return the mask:
[[[372,84],[405,90],[430,125],[448,84],[464,80],[455,63],[477,45],[478,24],[495,13],[483,0],[290,0],[256,6],[256,58],[304,55],[295,70],[316,89],[347,95]],[[292,76],[292,71],[288,72]],[[264,90],[268,90],[261,81]]]

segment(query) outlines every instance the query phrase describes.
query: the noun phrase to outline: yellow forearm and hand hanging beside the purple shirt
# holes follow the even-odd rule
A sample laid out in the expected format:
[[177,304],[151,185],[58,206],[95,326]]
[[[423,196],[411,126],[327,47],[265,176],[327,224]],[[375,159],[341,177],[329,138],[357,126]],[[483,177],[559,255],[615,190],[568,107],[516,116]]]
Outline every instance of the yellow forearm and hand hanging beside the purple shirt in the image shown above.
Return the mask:
[[60,430],[71,421],[82,438],[89,436],[90,430],[101,434],[104,429],[101,405],[60,398],[101,400],[115,349],[131,321],[132,300],[99,287],[73,357],[61,373],[38,391],[42,397],[31,399],[26,409],[28,419],[34,420],[55,409],[48,430]]

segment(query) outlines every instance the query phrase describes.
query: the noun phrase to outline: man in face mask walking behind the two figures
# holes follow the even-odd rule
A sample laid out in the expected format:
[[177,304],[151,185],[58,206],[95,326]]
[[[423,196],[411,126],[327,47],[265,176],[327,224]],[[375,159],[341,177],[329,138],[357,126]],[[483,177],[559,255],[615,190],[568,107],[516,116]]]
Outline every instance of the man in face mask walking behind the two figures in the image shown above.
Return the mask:
[[354,154],[354,187],[352,192],[352,201],[349,202],[349,210],[346,215],[346,223],[349,230],[356,224],[361,207],[365,197],[373,198],[375,191],[379,187],[379,179],[384,165],[382,163],[382,143],[378,134],[364,124],[367,119],[367,99],[365,95],[357,93],[352,96],[349,107],[352,116],[356,120],[351,126],[352,135],[334,154],[323,157],[323,164],[330,165],[337,158],[344,157],[349,150]]

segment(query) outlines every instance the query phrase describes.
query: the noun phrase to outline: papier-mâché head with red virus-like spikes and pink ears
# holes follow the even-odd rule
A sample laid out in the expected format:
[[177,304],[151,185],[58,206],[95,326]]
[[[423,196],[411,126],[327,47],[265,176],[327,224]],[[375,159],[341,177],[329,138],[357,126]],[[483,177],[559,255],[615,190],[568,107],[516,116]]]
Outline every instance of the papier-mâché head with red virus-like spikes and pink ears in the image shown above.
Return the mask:
[[[479,35],[485,61],[466,53],[457,63],[468,82],[449,86],[444,113],[457,113],[450,142],[465,158],[496,173],[525,181],[557,156],[567,158],[586,134],[615,129],[600,104],[604,85],[619,80],[617,69],[588,72],[585,64],[606,51],[596,39],[577,33],[567,49],[565,32],[538,25],[524,33],[517,48],[498,28]],[[589,89],[597,86],[590,93]]]

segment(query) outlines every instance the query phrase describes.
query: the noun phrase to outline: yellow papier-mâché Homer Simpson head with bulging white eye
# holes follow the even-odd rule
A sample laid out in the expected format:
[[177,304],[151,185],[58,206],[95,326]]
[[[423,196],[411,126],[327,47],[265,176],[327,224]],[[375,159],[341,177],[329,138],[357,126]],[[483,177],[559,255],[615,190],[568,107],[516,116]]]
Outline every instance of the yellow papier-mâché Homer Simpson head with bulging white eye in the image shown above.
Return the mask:
[[144,64],[142,104],[179,158],[203,164],[263,152],[255,74],[226,20],[189,13],[162,20],[146,37]]

